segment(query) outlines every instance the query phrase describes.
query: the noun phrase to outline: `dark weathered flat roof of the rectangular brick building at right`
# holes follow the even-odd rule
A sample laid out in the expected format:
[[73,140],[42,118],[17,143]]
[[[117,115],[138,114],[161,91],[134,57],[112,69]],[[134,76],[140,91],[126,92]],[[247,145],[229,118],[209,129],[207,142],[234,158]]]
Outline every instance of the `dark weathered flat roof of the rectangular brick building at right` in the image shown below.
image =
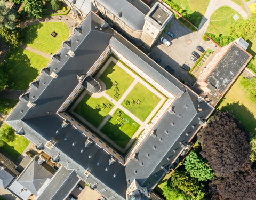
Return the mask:
[[225,92],[250,59],[251,55],[234,43],[205,82],[214,86],[218,92]]

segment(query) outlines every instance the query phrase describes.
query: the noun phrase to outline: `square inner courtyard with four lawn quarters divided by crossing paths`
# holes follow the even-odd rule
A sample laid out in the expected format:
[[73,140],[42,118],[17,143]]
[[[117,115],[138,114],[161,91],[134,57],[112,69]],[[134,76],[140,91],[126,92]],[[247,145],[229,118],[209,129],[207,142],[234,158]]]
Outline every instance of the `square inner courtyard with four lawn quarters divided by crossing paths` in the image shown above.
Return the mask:
[[166,97],[114,57],[105,62],[94,78],[102,90],[82,91],[69,112],[124,153]]

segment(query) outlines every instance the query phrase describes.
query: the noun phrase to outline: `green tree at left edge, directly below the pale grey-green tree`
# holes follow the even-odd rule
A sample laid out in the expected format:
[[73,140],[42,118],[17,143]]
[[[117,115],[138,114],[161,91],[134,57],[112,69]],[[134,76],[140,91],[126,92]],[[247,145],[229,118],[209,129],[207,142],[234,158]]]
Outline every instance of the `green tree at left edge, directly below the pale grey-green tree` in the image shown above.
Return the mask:
[[19,28],[14,30],[7,29],[6,27],[0,28],[0,35],[2,36],[2,41],[8,46],[17,48],[22,44],[21,30]]

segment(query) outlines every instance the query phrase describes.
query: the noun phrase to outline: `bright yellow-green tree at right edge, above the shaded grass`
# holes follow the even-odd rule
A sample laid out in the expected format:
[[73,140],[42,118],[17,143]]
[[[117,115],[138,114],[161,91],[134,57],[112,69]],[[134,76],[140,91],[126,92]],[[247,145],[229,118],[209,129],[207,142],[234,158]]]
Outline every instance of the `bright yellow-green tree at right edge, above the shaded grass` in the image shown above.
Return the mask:
[[244,87],[246,93],[249,95],[249,99],[256,103],[256,77],[253,78],[243,78],[240,85]]

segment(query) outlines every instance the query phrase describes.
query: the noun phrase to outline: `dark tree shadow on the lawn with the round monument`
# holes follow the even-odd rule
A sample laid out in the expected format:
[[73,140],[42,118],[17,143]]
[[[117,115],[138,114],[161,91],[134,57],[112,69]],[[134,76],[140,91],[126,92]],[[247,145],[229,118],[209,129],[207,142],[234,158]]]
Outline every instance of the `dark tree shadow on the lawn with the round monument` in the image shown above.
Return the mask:
[[38,23],[36,25],[28,26],[22,29],[22,38],[23,43],[31,44],[38,37],[37,29],[40,29],[43,26],[42,23]]

